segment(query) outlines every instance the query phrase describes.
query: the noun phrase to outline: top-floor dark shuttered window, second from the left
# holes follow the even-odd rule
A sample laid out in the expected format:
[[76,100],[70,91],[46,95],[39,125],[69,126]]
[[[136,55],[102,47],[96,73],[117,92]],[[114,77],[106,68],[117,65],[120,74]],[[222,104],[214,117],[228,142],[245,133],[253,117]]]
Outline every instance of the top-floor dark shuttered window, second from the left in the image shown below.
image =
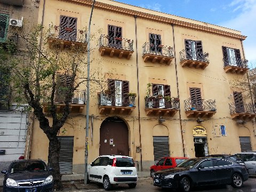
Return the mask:
[[111,47],[122,48],[122,27],[108,25],[108,44]]

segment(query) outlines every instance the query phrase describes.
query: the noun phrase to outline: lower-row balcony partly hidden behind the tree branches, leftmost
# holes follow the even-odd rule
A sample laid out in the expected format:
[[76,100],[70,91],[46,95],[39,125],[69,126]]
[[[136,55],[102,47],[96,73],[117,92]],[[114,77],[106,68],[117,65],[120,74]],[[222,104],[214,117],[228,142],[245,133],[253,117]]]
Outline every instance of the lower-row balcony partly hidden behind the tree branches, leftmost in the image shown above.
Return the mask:
[[[60,97],[55,98],[54,105],[57,106],[57,112],[60,113],[65,107],[64,103],[64,95],[60,95]],[[85,106],[85,91],[76,90],[74,91],[74,96],[69,103],[70,113],[82,113]],[[44,113],[49,112],[50,102],[45,100],[43,102]]]

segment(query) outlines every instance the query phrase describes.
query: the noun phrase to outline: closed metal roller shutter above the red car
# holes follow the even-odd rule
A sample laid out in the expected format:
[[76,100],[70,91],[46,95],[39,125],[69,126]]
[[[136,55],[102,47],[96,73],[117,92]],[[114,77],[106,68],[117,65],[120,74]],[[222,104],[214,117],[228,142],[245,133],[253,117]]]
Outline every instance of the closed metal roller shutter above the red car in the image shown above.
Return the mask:
[[154,161],[159,160],[161,157],[170,156],[169,137],[154,136],[153,146],[154,146]]

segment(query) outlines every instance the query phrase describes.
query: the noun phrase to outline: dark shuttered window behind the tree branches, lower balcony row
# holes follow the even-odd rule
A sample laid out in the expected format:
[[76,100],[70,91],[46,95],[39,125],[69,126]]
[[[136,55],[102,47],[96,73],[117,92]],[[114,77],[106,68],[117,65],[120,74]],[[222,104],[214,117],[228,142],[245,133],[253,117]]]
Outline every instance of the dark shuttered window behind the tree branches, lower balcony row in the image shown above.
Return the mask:
[[70,88],[71,88],[71,76],[57,75],[55,102],[64,102],[66,93],[69,91]]

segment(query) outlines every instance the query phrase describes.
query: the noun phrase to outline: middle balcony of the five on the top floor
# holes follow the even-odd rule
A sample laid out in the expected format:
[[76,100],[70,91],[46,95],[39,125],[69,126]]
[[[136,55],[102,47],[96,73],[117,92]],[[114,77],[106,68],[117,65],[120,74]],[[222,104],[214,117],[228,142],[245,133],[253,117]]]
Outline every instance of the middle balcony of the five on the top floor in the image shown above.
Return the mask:
[[145,43],[142,46],[142,49],[142,58],[144,59],[144,62],[150,61],[153,63],[158,62],[170,65],[174,58],[173,47],[170,46]]

